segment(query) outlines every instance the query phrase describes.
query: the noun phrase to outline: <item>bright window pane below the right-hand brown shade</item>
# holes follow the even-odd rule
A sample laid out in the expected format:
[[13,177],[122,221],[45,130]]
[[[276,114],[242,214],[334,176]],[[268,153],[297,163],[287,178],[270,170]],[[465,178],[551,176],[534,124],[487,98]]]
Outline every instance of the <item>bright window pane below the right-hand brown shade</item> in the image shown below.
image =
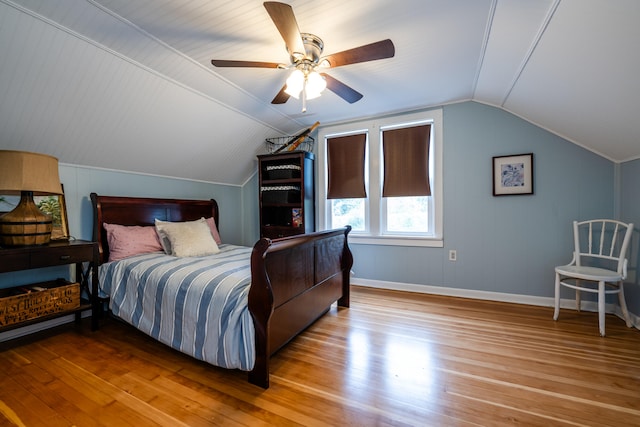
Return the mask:
[[387,231],[426,233],[429,231],[429,198],[388,197]]

